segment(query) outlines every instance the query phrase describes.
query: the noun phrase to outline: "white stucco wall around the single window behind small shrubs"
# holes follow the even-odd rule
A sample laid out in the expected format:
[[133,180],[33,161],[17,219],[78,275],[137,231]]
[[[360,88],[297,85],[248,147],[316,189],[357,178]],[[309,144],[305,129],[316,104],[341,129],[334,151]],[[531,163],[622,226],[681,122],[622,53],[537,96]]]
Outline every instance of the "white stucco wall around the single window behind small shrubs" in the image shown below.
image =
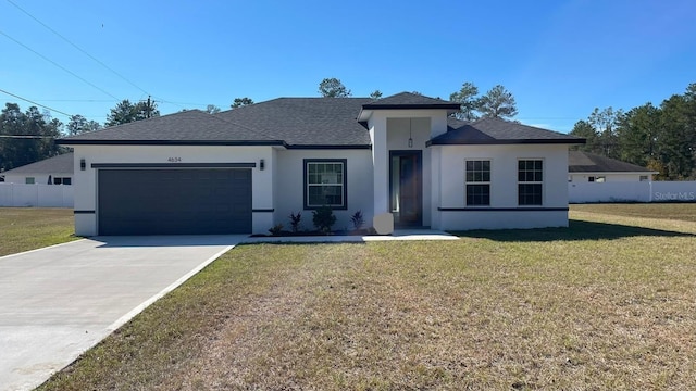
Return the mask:
[[[277,150],[275,151],[275,189],[274,224],[283,224],[290,228],[290,213],[301,212],[301,225],[314,229],[312,210],[303,210],[304,159],[345,159],[347,164],[347,209],[335,210],[336,225],[334,229],[350,229],[350,216],[361,211],[365,227],[372,225],[373,210],[373,171],[371,150]],[[271,228],[271,225],[265,227]]]

